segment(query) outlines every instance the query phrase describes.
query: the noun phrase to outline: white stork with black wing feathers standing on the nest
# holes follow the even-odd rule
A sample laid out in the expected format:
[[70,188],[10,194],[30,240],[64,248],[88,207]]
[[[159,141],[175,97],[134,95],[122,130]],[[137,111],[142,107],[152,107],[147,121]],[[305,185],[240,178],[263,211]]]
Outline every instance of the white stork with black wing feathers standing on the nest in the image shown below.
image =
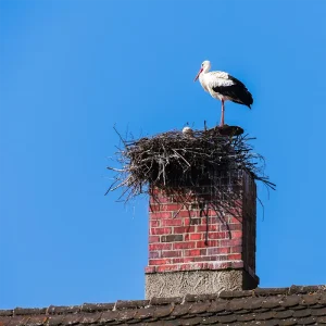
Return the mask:
[[224,72],[209,72],[211,68],[211,62],[204,61],[201,64],[199,73],[197,74],[195,82],[199,78],[199,82],[203,89],[208,91],[214,99],[222,101],[222,116],[220,126],[224,125],[224,102],[233,101],[239,104],[244,104],[250,108],[253,103],[251,93],[246,86],[237,78],[230,76]]

